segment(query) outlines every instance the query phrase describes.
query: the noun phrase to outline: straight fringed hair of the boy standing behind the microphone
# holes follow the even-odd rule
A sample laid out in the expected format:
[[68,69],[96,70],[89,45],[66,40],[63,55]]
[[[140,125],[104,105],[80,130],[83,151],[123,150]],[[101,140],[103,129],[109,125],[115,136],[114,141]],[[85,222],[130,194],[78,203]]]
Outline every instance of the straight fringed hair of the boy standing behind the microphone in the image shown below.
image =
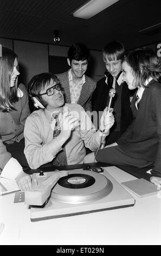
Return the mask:
[[111,62],[112,60],[120,60],[125,56],[124,45],[119,41],[109,42],[102,50],[104,62],[107,59]]

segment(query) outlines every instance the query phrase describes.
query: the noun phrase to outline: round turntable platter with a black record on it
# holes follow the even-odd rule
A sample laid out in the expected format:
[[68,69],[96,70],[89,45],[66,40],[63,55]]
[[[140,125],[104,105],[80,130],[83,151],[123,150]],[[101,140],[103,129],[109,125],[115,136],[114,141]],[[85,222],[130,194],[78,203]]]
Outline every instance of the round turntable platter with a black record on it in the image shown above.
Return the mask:
[[106,197],[113,189],[106,176],[88,170],[71,170],[51,192],[51,200],[66,204],[83,204]]

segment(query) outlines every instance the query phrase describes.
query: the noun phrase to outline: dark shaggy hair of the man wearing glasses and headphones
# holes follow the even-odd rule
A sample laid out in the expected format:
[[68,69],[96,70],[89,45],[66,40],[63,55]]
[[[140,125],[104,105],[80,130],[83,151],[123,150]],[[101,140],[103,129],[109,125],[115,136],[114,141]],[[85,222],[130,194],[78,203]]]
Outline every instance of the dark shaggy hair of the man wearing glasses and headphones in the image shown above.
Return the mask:
[[[59,79],[57,76],[53,75],[52,73],[41,73],[33,78],[31,78],[30,82],[28,83],[28,94],[30,97],[37,96],[44,107],[47,106],[46,101],[42,99],[42,96],[40,95],[40,92],[42,89],[46,88],[50,81],[53,80],[55,83],[59,83]],[[62,91],[62,90],[61,90]]]

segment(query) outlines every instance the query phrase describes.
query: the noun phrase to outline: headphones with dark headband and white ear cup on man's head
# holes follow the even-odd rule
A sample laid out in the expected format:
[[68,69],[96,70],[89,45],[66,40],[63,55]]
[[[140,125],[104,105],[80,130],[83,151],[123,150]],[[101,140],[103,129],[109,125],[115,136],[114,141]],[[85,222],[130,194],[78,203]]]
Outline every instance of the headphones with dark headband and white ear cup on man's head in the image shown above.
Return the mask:
[[[40,75],[42,75],[42,74],[40,74]],[[35,81],[37,80],[38,77],[40,77],[40,75],[36,75],[33,78],[31,78],[31,80],[28,84],[27,90],[28,90],[29,96],[31,97],[31,100],[34,103],[34,106],[36,108],[45,108],[45,106],[43,105],[42,101],[38,98],[38,96],[31,93],[31,89],[33,88]]]

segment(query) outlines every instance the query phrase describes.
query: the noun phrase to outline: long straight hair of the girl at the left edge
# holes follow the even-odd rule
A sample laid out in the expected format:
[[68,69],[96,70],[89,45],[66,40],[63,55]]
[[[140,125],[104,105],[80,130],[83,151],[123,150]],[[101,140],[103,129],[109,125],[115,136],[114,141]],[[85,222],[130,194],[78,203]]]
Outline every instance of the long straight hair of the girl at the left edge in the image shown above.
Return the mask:
[[5,47],[2,47],[2,57],[0,57],[0,111],[8,112],[14,108],[12,103],[18,101],[17,80],[14,87],[10,87],[11,74],[14,69],[17,54]]

